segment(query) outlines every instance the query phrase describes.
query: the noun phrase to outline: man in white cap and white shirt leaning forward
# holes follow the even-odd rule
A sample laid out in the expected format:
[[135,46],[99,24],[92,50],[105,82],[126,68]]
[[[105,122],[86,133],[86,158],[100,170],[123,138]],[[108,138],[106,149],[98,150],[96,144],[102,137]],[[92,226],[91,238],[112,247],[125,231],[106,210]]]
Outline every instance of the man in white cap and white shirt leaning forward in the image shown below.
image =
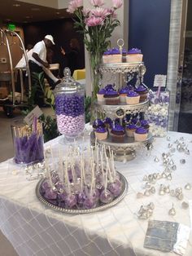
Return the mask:
[[[60,79],[56,78],[53,74],[51,77],[47,76],[47,72],[50,72],[48,69],[50,64],[46,60],[47,49],[51,48],[53,45],[55,45],[54,38],[51,35],[46,35],[42,41],[37,42],[33,47],[33,54],[28,58],[28,65],[31,74],[44,73],[52,89],[61,82]],[[34,79],[32,75],[32,85],[36,82],[37,79]],[[41,88],[41,86],[39,86],[39,88]],[[40,107],[44,105],[44,92],[42,90],[38,90],[35,94],[34,103],[38,104]]]

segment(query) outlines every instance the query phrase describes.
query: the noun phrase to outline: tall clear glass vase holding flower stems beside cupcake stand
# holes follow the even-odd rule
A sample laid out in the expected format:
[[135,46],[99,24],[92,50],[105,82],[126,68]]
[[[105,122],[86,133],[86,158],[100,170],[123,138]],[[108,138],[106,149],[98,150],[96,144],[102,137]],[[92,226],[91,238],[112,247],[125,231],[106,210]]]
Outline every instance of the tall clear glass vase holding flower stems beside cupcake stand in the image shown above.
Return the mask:
[[97,93],[101,85],[102,74],[99,72],[99,67],[102,63],[102,53],[96,51],[95,53],[89,53],[90,60],[90,79],[91,79],[91,107],[90,107],[90,124],[93,123],[94,119],[98,117],[95,111],[94,104],[97,100]]

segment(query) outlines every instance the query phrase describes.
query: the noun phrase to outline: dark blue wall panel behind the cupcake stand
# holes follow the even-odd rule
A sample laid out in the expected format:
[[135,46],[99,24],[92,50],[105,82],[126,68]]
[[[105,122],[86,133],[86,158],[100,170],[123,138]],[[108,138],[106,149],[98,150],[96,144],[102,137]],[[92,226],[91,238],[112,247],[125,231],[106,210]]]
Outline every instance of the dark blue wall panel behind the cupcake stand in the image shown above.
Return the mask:
[[144,55],[144,82],[153,86],[155,74],[167,74],[171,0],[129,0],[129,48]]

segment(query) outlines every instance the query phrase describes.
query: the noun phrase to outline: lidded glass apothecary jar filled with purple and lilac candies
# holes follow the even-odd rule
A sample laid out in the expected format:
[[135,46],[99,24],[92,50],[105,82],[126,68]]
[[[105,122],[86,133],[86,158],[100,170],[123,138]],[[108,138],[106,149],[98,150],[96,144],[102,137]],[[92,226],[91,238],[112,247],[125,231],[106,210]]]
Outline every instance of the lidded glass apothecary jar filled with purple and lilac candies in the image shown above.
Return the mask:
[[64,68],[62,82],[55,87],[55,112],[58,130],[67,138],[76,138],[85,128],[85,88]]

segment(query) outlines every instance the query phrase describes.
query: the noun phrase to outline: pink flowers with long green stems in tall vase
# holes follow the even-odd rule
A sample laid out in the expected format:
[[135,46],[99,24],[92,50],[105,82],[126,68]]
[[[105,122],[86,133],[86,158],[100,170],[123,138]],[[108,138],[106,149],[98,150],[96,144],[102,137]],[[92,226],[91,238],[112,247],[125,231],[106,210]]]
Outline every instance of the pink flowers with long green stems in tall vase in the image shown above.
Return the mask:
[[92,8],[84,8],[83,0],[69,2],[68,12],[76,15],[75,27],[84,34],[84,42],[89,52],[90,67],[92,69],[93,98],[99,90],[99,65],[102,55],[110,45],[111,33],[120,25],[116,19],[116,10],[122,6],[122,0],[111,0],[112,7],[106,8],[103,0],[89,0]]

